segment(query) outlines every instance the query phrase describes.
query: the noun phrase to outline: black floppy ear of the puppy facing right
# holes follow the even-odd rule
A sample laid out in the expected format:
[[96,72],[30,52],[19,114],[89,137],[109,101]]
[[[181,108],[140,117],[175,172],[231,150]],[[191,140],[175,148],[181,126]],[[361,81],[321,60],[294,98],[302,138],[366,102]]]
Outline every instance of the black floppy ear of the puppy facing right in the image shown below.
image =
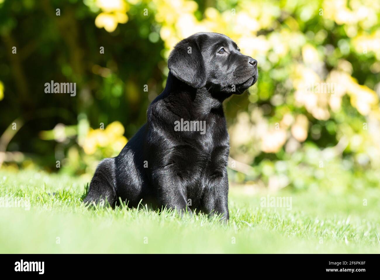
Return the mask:
[[179,80],[200,89],[206,84],[200,35],[192,35],[179,43],[171,51],[168,59],[170,72]]

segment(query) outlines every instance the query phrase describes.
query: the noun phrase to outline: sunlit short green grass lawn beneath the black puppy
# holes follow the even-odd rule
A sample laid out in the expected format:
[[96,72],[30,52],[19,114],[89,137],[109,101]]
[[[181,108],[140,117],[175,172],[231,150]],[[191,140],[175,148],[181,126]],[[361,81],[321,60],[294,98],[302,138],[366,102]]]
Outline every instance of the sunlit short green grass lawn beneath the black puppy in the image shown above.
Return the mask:
[[271,194],[292,197],[286,210],[260,207],[266,193],[230,188],[230,223],[223,226],[201,215],[181,219],[144,207],[88,210],[80,201],[86,183],[0,170],[0,197],[31,203],[30,210],[0,208],[0,253],[380,252],[380,189]]

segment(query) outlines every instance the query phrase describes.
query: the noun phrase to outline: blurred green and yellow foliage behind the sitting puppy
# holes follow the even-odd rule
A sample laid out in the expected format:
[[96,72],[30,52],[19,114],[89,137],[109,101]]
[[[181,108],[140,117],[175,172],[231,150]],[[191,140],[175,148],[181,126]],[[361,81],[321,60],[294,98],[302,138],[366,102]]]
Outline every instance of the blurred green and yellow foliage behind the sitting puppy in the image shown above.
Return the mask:
[[[259,66],[225,102],[231,157],[250,166],[231,162],[231,181],[378,186],[379,17],[378,0],[0,0],[0,124],[24,124],[6,145],[22,160],[4,165],[90,174],[146,121],[174,44],[209,31]],[[51,80],[78,94],[45,94]]]

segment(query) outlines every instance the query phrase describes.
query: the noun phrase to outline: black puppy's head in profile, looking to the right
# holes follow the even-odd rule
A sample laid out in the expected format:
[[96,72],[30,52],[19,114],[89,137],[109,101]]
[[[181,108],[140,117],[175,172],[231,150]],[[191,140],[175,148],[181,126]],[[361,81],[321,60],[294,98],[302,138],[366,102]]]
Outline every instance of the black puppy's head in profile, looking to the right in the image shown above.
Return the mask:
[[196,33],[170,53],[171,73],[188,85],[242,94],[257,81],[257,61],[240,52],[236,43],[219,33]]

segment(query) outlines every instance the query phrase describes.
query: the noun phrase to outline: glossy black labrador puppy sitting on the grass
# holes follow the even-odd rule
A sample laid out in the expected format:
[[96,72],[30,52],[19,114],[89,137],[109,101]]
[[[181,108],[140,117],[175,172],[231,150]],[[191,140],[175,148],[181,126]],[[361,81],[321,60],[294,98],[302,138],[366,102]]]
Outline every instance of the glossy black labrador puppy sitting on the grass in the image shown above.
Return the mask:
[[164,91],[120,154],[100,162],[85,203],[120,200],[194,209],[229,219],[229,135],[222,102],[258,77],[257,61],[219,33],[196,33],[175,46]]

